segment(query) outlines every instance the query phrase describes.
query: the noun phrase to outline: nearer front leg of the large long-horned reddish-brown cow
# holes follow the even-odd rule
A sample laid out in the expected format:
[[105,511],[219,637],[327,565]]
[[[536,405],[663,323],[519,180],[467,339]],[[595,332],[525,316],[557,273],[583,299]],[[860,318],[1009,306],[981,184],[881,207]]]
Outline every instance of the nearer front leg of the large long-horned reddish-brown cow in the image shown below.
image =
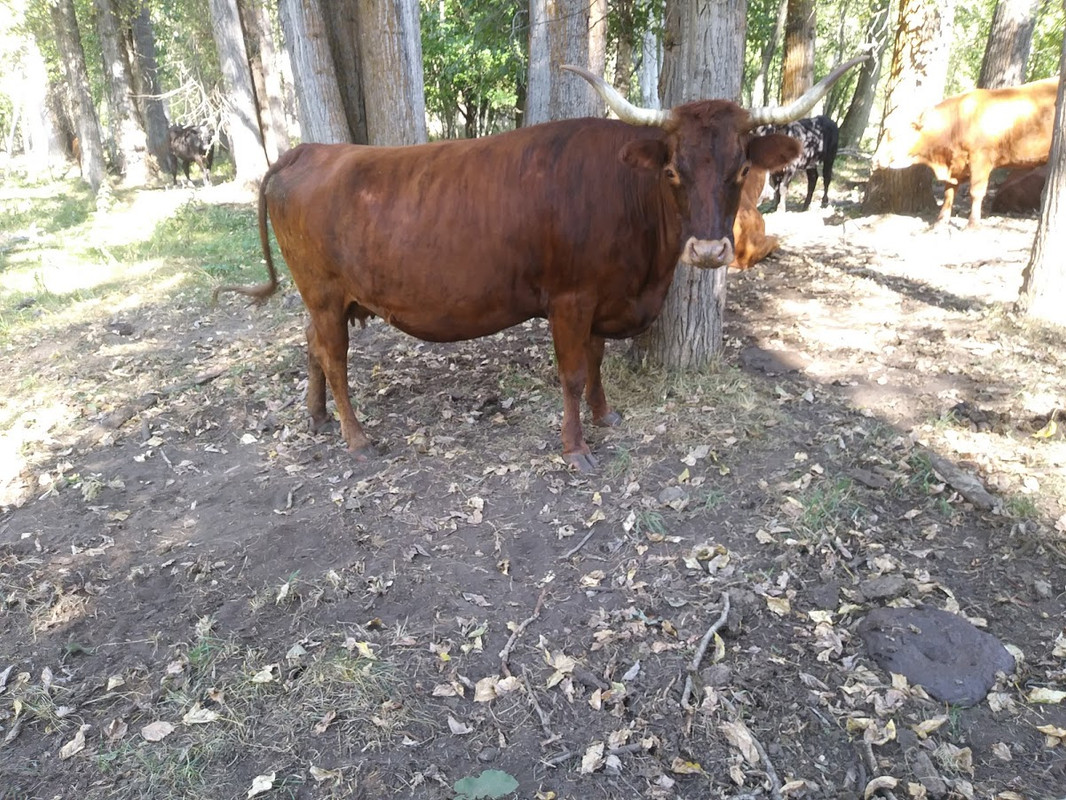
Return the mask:
[[[588,378],[588,338],[592,323],[580,309],[580,301],[556,302],[549,314],[551,339],[563,388],[563,458],[580,473],[596,468],[596,459],[581,429],[581,395]],[[600,388],[602,391],[602,387]],[[607,401],[603,401],[604,406]]]

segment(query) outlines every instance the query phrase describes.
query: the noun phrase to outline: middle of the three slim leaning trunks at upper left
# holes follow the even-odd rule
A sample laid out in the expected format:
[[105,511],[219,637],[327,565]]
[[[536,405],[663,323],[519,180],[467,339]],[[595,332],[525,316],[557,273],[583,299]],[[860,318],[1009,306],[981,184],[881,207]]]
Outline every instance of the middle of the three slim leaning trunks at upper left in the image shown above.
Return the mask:
[[111,106],[109,123],[115,140],[118,174],[128,186],[144,186],[148,180],[148,137],[138,115],[133,81],[119,35],[112,0],[96,1],[96,31],[100,36],[104,82]]

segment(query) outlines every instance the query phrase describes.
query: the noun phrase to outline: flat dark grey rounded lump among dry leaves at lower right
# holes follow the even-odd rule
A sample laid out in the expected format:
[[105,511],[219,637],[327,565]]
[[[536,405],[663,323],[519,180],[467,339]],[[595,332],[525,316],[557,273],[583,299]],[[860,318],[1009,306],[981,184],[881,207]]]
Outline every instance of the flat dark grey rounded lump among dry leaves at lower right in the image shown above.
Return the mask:
[[1014,670],[999,639],[936,608],[875,608],[858,633],[878,667],[953,705],[976,705],[997,672]]

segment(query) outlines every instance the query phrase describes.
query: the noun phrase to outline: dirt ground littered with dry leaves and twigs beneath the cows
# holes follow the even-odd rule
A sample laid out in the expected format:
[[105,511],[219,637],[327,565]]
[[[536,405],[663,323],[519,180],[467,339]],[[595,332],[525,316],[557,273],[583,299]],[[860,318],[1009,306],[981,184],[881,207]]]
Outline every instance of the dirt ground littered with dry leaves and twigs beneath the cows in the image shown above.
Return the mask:
[[[539,321],[355,331],[366,464],[308,432],[291,285],[13,329],[0,798],[1066,797],[1035,691],[1066,689],[1066,342],[1011,308],[1035,220],[849,202],[768,217],[720,371],[613,345],[592,476]],[[919,604],[1018,659],[984,702],[869,657],[866,614]]]

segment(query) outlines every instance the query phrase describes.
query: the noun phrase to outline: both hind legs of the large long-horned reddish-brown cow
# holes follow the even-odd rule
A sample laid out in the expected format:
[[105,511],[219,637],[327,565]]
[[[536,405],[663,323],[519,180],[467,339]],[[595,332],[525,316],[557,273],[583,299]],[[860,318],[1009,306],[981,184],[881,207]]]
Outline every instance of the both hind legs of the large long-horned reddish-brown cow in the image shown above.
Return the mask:
[[328,383],[349,452],[359,460],[373,454],[373,447],[355,418],[349,396],[345,309],[329,309],[312,316],[307,326],[307,410],[312,427],[318,430],[329,421],[325,410],[325,384]]

